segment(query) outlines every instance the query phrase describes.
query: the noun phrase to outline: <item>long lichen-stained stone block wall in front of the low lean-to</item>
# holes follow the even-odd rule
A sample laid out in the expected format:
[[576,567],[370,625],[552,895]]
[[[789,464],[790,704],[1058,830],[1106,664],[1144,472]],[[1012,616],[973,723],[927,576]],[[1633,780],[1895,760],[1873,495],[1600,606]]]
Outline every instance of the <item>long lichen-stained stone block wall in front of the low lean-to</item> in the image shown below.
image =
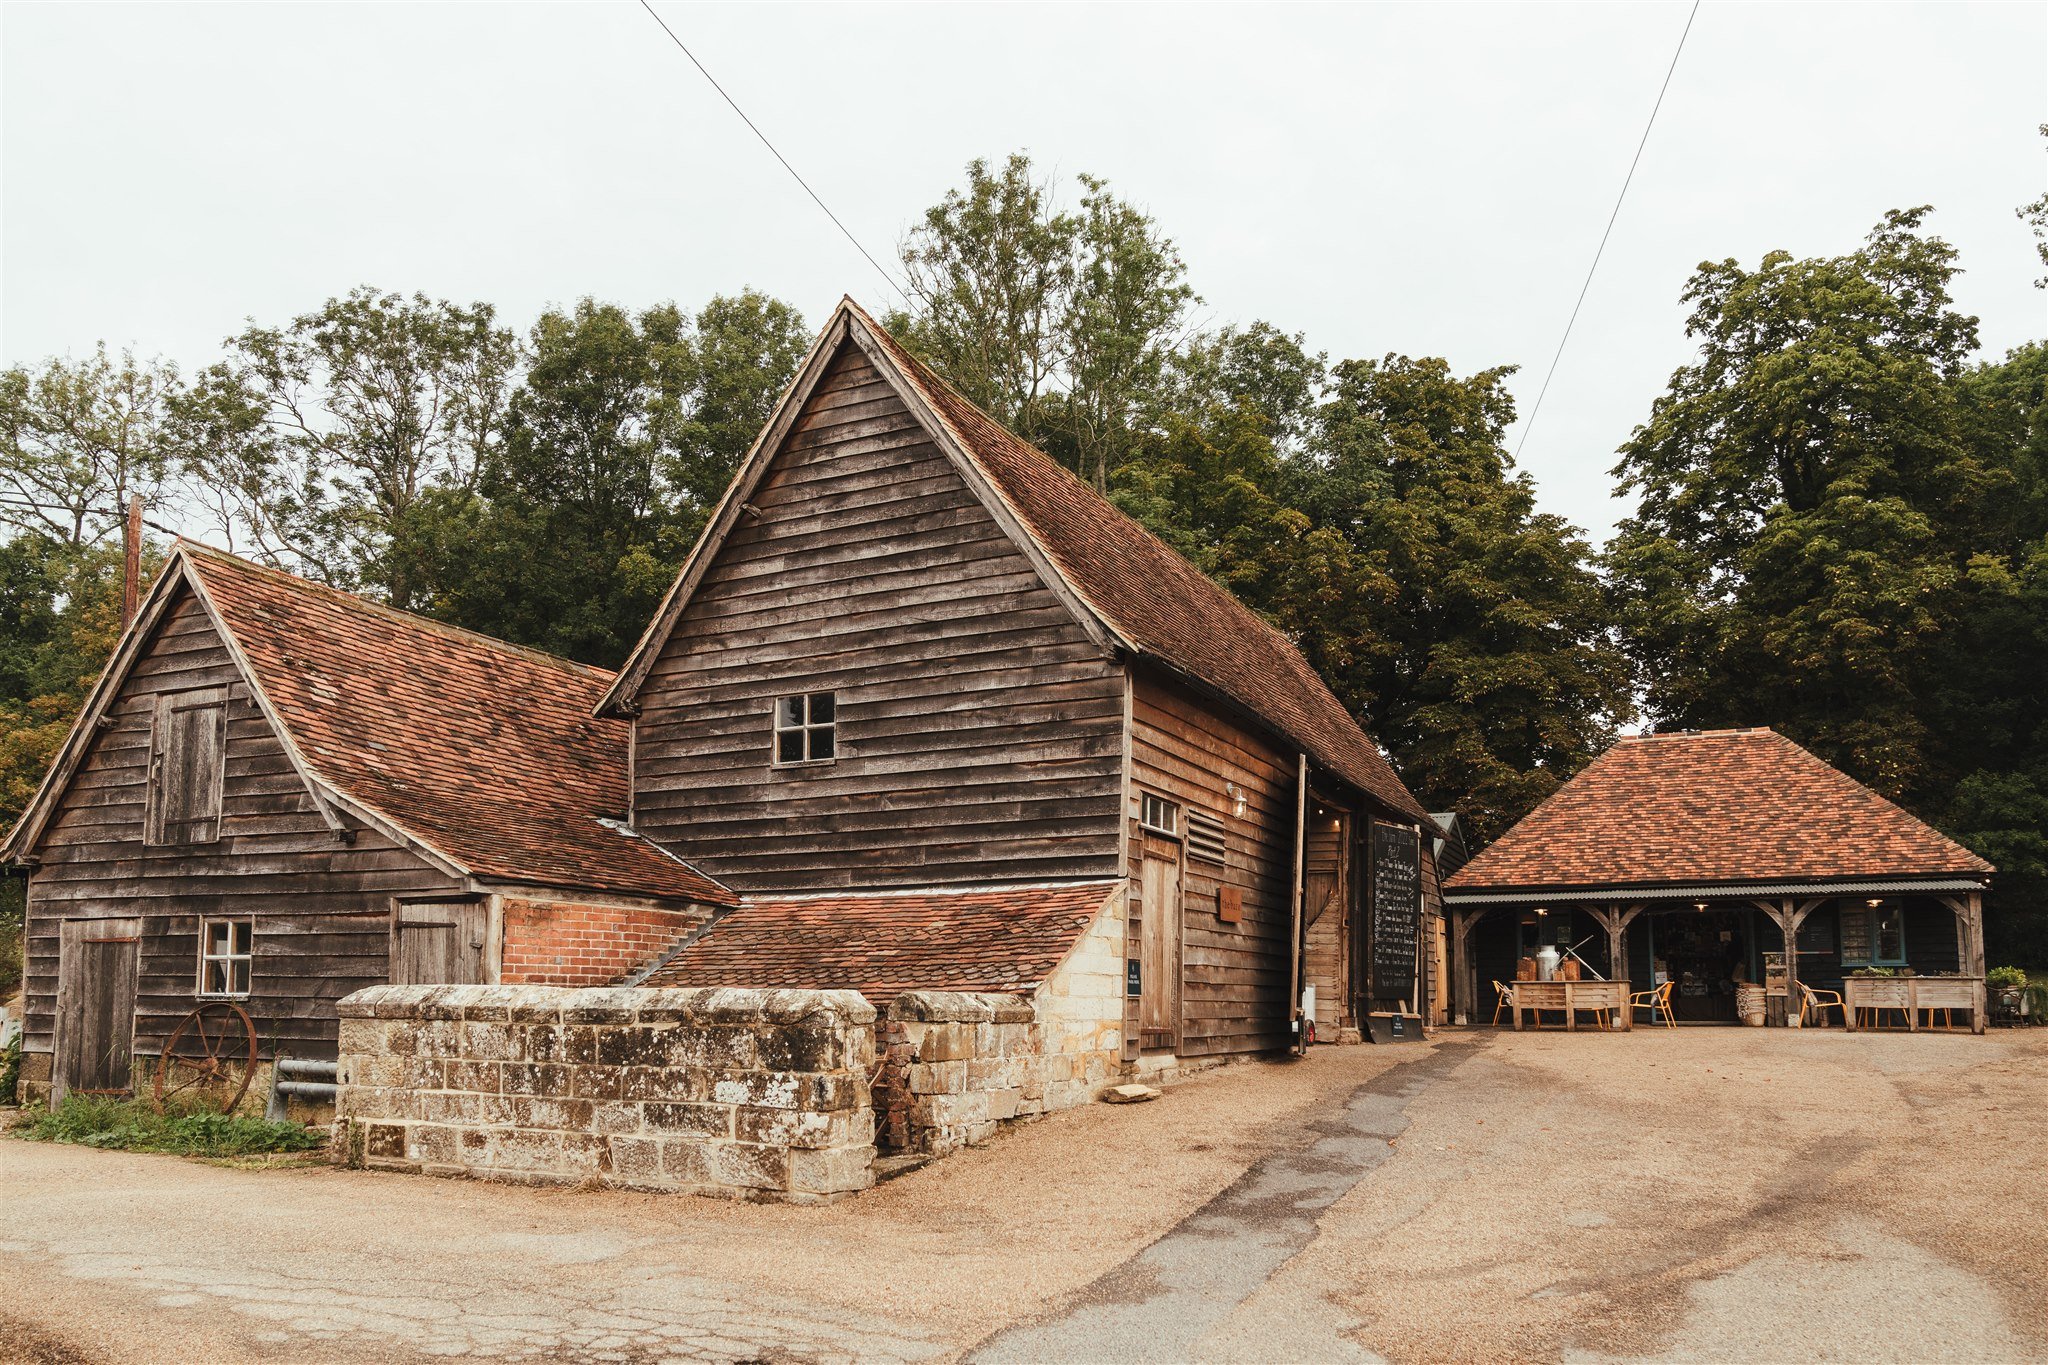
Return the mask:
[[373,986],[340,1017],[350,1164],[799,1203],[872,1183],[850,990]]

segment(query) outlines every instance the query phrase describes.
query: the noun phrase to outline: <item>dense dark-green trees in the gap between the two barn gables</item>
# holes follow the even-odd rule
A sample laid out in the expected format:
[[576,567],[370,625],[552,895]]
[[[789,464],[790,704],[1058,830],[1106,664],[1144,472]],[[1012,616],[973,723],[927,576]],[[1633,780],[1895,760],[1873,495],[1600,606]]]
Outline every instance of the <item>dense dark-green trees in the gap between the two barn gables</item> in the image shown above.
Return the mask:
[[475,493],[440,489],[432,610],[616,665],[653,614],[805,350],[754,291],[694,317],[584,299],[545,313]]

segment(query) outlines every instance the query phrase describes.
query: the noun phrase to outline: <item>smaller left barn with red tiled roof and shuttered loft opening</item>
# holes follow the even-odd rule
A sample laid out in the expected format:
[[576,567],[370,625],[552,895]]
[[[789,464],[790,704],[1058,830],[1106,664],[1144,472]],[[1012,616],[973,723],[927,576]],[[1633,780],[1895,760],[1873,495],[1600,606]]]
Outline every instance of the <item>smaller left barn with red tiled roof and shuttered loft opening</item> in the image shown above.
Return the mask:
[[733,905],[625,829],[610,681],[180,542],[0,847],[29,1095],[127,1091],[207,1001],[332,1058],[350,990],[604,984]]

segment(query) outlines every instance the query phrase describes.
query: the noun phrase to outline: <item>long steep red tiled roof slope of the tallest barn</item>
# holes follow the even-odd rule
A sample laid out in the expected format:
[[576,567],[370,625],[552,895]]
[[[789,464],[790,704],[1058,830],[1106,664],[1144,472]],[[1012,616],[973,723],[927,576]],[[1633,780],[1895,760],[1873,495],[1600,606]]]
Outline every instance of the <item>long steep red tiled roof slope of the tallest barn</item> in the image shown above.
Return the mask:
[[872,317],[860,313],[860,319],[1110,628],[1264,718],[1391,810],[1427,821],[1393,765],[1284,634],[1063,465],[997,426]]

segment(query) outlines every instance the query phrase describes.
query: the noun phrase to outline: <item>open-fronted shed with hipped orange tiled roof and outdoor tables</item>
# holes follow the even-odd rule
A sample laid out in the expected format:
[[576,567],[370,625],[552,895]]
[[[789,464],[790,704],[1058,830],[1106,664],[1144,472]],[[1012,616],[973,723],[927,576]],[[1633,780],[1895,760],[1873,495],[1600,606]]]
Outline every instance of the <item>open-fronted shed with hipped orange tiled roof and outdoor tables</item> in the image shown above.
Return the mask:
[[1991,874],[1774,731],[1626,737],[1446,880],[1456,1013],[1569,956],[1671,1023],[1982,1031]]

